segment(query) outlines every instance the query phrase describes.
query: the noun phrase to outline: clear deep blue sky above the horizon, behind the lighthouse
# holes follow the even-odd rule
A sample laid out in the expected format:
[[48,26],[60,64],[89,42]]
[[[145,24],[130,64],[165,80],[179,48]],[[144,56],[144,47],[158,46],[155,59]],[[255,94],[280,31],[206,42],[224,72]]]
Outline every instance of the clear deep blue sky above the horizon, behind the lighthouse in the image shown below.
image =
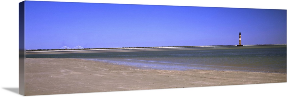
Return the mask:
[[26,49],[286,43],[286,10],[26,1]]

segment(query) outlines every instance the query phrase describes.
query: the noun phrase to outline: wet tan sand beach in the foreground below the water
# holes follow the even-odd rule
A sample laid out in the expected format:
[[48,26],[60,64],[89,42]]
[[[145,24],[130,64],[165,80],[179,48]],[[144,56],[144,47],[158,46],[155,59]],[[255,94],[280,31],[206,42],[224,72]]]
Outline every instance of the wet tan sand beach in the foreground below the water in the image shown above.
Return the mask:
[[286,74],[145,70],[72,58],[26,58],[26,95],[286,82]]

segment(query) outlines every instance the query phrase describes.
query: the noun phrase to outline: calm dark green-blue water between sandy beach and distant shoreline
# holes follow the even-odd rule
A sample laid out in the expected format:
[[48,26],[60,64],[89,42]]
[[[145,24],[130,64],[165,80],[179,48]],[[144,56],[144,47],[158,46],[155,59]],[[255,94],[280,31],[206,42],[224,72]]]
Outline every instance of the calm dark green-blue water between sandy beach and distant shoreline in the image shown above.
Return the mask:
[[286,45],[190,47],[169,50],[33,54],[26,58],[81,58],[162,70],[232,70],[286,74]]

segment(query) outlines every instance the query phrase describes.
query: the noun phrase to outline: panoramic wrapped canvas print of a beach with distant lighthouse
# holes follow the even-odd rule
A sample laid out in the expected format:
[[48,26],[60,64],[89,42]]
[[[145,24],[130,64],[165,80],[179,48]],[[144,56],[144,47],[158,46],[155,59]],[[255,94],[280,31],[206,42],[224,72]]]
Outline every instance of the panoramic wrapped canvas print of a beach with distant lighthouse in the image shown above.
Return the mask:
[[25,96],[279,82],[283,9],[19,3]]

